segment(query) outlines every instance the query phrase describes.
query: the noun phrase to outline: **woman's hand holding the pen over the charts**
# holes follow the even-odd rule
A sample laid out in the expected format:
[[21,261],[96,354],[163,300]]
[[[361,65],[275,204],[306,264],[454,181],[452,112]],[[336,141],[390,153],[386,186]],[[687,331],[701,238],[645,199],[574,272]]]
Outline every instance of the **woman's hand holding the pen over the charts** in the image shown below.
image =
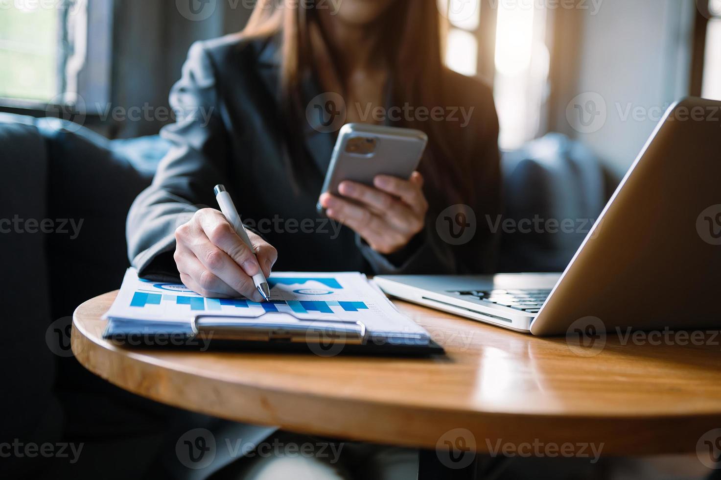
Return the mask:
[[278,251],[253,232],[248,237],[255,255],[224,215],[216,209],[195,212],[175,230],[175,263],[186,287],[203,297],[238,297],[260,302],[252,276],[267,278]]

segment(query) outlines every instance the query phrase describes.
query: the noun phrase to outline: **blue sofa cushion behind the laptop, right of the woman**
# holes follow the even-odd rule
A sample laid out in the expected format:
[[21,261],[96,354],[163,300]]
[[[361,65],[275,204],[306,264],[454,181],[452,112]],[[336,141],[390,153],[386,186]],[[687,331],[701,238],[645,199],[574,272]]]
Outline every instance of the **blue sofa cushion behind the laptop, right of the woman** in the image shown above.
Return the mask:
[[[547,134],[503,156],[501,271],[563,271],[606,203],[596,155]],[[505,224],[503,223],[505,222]]]

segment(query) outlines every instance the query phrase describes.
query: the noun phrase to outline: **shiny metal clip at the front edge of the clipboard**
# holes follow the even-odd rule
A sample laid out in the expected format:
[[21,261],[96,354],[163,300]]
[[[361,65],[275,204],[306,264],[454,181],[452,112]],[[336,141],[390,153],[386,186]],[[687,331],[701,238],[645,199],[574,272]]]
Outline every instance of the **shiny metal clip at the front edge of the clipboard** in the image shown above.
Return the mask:
[[299,320],[287,313],[261,318],[199,315],[193,319],[193,333],[217,340],[296,344],[360,345],[366,340],[366,326],[359,321]]

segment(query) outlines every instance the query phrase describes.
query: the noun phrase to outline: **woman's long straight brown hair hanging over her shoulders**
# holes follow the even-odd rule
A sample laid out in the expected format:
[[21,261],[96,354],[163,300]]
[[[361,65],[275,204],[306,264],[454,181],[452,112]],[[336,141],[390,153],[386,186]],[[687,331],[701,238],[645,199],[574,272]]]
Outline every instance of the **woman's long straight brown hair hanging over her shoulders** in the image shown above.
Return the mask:
[[[392,66],[389,73],[393,79],[394,105],[408,104],[429,110],[448,105],[448,99],[444,98],[448,91],[445,85],[447,71],[441,58],[441,32],[446,24],[441,20],[436,0],[396,0],[380,19],[381,22],[401,24],[379,29],[385,37],[382,43],[386,45],[387,64]],[[299,6],[298,0],[257,0],[249,22],[241,32],[244,38],[280,35],[279,87],[287,125],[297,125],[305,115],[301,79],[314,68],[310,40],[313,22],[318,22],[316,9]],[[327,50],[331,51],[330,48]],[[433,160],[424,159],[420,166],[426,182],[433,185],[435,191],[444,192],[447,201],[473,201],[474,186],[468,184],[469,175],[464,175],[472,159],[469,152],[461,151],[464,147],[459,141],[459,126],[455,122],[421,122],[417,118],[404,119],[398,126],[417,128],[428,134],[428,150]],[[298,146],[297,129],[288,128],[286,133],[291,136],[291,144]],[[291,171],[302,168],[301,165],[288,167]]]

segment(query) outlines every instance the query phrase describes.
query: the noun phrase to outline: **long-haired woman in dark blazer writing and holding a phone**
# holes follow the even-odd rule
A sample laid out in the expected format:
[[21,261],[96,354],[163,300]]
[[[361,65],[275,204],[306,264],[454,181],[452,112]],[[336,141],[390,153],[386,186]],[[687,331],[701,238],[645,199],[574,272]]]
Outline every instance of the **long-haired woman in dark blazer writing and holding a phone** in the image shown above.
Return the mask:
[[[440,18],[435,0],[259,0],[242,32],[195,43],[170,96],[177,123],[162,131],[172,150],[128,217],[139,274],[252,297],[249,277],[276,260],[284,271],[491,272],[497,116],[489,87],[442,65]],[[345,109],[325,102],[333,94]],[[347,183],[361,206],[319,199],[351,121],[425,131],[420,172]],[[258,262],[216,209],[218,183],[255,232]],[[454,228],[475,232],[456,240]]]

